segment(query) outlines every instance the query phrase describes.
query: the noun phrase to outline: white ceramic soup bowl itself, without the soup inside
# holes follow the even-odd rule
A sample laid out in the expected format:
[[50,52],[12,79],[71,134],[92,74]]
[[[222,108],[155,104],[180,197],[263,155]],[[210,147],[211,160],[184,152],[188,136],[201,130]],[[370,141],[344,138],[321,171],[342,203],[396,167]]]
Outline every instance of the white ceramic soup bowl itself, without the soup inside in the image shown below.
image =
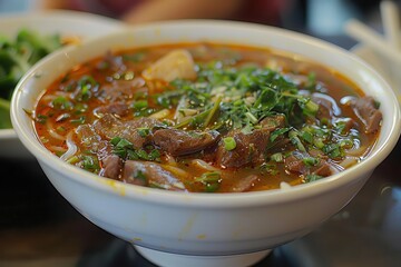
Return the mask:
[[[189,40],[266,46],[340,70],[382,103],[384,119],[375,148],[358,166],[315,182],[211,195],[164,191],[97,177],[63,162],[40,145],[23,109],[33,109],[42,88],[60,73],[109,49]],[[248,266],[270,249],[309,234],[355,196],[400,135],[400,109],[391,88],[350,52],[295,32],[228,21],[138,26],[63,49],[25,76],[13,95],[11,116],[22,144],[75,208],[105,230],[133,243],[149,260],[175,267]]]

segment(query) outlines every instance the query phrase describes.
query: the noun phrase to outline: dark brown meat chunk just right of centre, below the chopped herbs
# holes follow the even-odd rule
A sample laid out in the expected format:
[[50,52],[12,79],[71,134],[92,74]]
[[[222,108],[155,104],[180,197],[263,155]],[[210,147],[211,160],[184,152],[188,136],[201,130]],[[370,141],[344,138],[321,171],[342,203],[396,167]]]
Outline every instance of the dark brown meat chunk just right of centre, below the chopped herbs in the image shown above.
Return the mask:
[[262,164],[264,161],[265,149],[268,145],[268,129],[256,129],[251,134],[243,134],[241,130],[233,130],[227,134],[233,137],[236,147],[226,150],[223,140],[217,148],[217,164],[226,168],[238,168],[250,164]]

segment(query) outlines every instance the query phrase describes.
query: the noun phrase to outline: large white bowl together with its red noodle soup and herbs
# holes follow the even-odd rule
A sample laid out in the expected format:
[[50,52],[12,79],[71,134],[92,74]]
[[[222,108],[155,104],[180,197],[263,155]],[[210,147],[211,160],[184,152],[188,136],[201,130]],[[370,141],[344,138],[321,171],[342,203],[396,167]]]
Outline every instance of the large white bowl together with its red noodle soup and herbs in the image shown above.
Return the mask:
[[255,264],[340,211],[400,135],[391,88],[350,52],[213,20],[62,49],[11,118],[82,216],[162,266]]

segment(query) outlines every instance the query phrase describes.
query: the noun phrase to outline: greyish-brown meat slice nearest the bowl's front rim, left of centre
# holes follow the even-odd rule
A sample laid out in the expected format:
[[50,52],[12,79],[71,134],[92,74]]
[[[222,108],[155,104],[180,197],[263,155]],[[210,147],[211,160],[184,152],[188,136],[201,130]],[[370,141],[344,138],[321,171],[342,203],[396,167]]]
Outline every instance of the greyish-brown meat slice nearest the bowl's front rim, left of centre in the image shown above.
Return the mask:
[[127,160],[123,168],[121,180],[138,186],[186,191],[180,180],[160,165],[154,162]]

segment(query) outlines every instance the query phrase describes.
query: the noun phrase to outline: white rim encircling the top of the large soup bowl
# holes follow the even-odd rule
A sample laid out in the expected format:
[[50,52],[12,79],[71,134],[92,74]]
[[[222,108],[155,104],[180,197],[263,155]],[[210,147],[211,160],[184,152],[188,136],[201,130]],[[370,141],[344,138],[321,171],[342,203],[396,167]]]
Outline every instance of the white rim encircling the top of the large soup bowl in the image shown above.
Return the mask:
[[[126,32],[135,31],[136,29],[154,29],[154,28],[164,28],[164,27],[182,27],[183,24],[188,26],[216,26],[218,27],[252,27],[263,31],[273,31],[275,33],[290,37],[293,40],[307,42],[311,46],[319,46],[329,51],[334,51],[342,57],[350,58],[354,60],[359,66],[369,70],[374,78],[383,86],[390,95],[394,95],[388,83],[382,79],[375,70],[373,70],[369,65],[363,60],[352,55],[350,51],[342,49],[335,44],[329,43],[324,40],[317,38],[294,32],[286,29],[275,28],[271,26],[262,26],[250,22],[237,22],[237,21],[221,21],[221,20],[178,20],[178,21],[163,21],[163,22],[149,22],[139,26],[131,26],[115,32],[111,32],[106,36],[98,38],[92,38],[86,40],[81,46],[78,47],[66,47],[62,48],[51,57],[46,57],[40,62],[38,62],[30,71],[28,71],[16,87],[16,90],[11,100],[11,121],[13,128],[17,132],[18,138],[22,144],[30,150],[30,152],[39,160],[41,165],[51,166],[52,169],[57,171],[63,171],[69,174],[68,178],[75,182],[79,182],[84,186],[96,188],[97,190],[104,191],[111,195],[120,195],[131,199],[141,199],[148,202],[157,202],[159,205],[174,205],[176,207],[211,207],[214,208],[225,208],[225,207],[256,207],[273,205],[278,202],[296,201],[297,199],[312,197],[315,195],[326,194],[331,190],[335,190],[339,187],[343,187],[348,184],[358,182],[358,178],[362,175],[365,175],[369,171],[373,171],[374,168],[384,160],[384,158],[391,152],[395,147],[395,144],[400,137],[401,123],[397,123],[400,120],[400,106],[397,101],[391,101],[389,106],[395,110],[392,117],[392,123],[390,127],[390,135],[385,136],[384,142],[382,146],[374,147],[373,151],[370,155],[359,162],[356,166],[353,166],[344,171],[332,175],[324,179],[297,185],[287,189],[270,189],[263,191],[251,191],[251,192],[229,192],[229,194],[205,194],[205,192],[176,192],[167,191],[148,187],[140,187],[130,184],[124,184],[121,181],[113,180],[109,178],[100,177],[94,175],[89,171],[82,170],[78,167],[71,166],[62,161],[57,156],[50,154],[43,146],[41,146],[38,139],[32,140],[32,138],[21,130],[20,121],[18,120],[19,112],[22,112],[19,106],[19,98],[21,97],[21,88],[29,81],[31,77],[35,76],[35,71],[41,66],[46,65],[48,61],[57,59],[62,55],[74,53],[75,49],[81,49],[84,46],[90,46],[98,41],[101,41],[106,38],[119,37]],[[244,42],[246,44],[246,42]],[[388,105],[387,105],[388,106]],[[373,167],[372,167],[373,166]],[[185,200],[185,201],[183,201]]]

